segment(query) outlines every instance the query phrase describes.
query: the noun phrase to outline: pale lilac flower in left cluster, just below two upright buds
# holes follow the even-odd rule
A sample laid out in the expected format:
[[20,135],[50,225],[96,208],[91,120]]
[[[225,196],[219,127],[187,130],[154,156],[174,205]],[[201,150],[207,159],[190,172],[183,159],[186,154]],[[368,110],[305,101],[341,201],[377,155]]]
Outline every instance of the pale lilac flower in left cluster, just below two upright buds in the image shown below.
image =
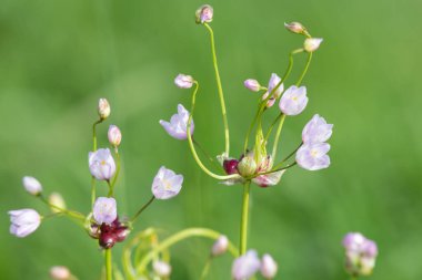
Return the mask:
[[99,148],[88,154],[88,163],[91,175],[99,180],[109,180],[115,172],[114,159],[110,149]]

